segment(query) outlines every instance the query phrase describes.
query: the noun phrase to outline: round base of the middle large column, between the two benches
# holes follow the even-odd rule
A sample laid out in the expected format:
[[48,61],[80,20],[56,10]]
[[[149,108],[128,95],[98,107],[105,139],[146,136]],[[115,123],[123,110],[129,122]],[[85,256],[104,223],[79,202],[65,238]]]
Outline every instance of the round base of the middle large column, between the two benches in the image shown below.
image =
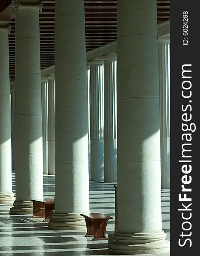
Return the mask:
[[54,211],[51,212],[49,230],[77,230],[83,228],[86,230],[86,222],[82,216],[73,213],[58,214]]

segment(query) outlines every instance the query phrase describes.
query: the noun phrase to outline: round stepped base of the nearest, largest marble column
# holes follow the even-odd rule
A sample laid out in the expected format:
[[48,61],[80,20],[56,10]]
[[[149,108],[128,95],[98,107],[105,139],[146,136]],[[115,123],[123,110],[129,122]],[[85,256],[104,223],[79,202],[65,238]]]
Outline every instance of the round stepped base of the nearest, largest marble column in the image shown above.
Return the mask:
[[170,251],[166,233],[109,235],[109,253],[114,254],[156,254]]

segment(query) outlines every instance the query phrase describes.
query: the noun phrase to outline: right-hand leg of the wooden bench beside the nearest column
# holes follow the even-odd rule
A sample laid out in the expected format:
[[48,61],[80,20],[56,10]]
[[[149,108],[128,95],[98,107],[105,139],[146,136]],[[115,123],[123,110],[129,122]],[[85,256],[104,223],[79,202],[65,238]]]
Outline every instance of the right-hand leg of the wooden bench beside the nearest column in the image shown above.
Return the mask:
[[108,220],[92,220],[92,225],[94,227],[94,240],[108,240],[106,238],[106,226]]

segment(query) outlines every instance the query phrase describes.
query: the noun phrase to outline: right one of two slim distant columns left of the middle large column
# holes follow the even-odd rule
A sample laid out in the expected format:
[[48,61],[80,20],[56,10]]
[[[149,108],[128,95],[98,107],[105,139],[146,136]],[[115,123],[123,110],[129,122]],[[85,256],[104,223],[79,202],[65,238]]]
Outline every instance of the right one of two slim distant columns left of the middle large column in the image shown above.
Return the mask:
[[55,174],[55,87],[54,76],[48,79],[48,115],[47,115],[47,140],[48,140],[48,172]]

